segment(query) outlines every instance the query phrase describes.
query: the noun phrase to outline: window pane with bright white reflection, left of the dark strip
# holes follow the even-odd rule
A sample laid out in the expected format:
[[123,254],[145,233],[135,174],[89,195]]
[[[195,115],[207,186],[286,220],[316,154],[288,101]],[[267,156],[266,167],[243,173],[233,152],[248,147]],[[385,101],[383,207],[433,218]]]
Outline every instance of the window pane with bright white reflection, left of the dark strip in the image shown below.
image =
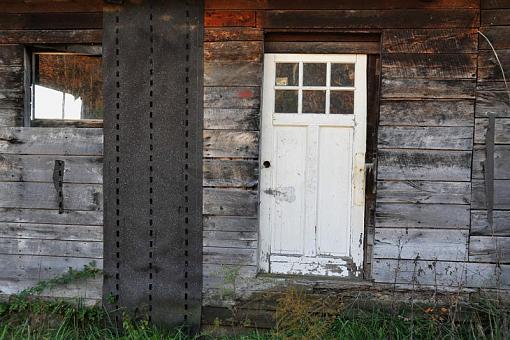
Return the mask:
[[102,119],[101,57],[69,53],[34,55],[34,119]]

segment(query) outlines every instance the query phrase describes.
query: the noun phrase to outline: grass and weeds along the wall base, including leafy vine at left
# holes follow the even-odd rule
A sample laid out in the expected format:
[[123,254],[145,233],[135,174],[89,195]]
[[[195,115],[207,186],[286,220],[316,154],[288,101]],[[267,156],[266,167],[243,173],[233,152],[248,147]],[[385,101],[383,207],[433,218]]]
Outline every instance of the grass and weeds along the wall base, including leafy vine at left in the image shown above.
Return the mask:
[[99,306],[39,298],[46,289],[99,274],[91,263],[81,271],[69,270],[60,277],[41,281],[35,287],[11,296],[8,302],[0,303],[0,340],[510,339],[510,305],[497,295],[487,294],[471,297],[468,301],[453,294],[446,299],[448,303],[443,301],[442,304],[438,301],[383,304],[361,298],[352,301],[342,295],[327,293],[309,295],[289,289],[278,298],[274,329],[253,330],[238,336],[215,336],[225,330],[218,326],[194,338],[178,329],[162,330],[146,320],[133,322],[128,317],[124,317],[121,327],[116,328],[109,314]]

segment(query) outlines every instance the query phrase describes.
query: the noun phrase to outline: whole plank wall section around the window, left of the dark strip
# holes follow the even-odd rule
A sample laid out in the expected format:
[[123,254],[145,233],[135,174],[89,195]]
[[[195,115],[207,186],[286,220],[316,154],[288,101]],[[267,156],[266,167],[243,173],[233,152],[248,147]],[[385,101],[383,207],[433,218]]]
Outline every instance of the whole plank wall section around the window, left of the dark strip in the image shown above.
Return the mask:
[[[25,49],[100,43],[102,1],[0,1],[0,294],[102,267],[101,129],[20,128],[29,116]],[[65,162],[63,213],[53,182]],[[45,294],[101,299],[102,278]]]

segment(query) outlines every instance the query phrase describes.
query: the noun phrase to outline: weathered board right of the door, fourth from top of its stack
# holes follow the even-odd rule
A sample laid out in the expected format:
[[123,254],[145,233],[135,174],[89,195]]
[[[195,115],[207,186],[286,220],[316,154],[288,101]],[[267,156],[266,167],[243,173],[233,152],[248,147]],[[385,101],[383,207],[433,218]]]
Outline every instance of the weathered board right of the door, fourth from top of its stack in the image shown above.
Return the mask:
[[384,100],[380,106],[379,124],[473,126],[473,112],[472,100]]

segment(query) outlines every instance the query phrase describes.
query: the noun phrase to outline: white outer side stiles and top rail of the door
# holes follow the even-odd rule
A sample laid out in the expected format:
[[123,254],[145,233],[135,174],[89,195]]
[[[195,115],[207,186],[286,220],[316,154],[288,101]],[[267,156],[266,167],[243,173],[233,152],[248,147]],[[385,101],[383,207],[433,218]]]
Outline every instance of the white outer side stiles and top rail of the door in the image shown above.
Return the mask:
[[[263,176],[264,166],[263,157],[272,152],[273,147],[273,129],[272,129],[272,108],[268,109],[268,103],[274,103],[274,84],[275,84],[275,63],[278,61],[299,60],[304,62],[314,61],[332,61],[338,58],[338,62],[355,61],[355,105],[353,119],[360,114],[364,119],[355,121],[353,133],[353,168],[352,168],[352,199],[351,199],[351,231],[350,231],[350,258],[356,267],[356,276],[363,275],[362,267],[364,263],[364,244],[365,244],[365,150],[367,145],[367,58],[366,54],[264,54],[263,69],[263,88],[261,105],[261,143],[260,143],[260,193],[259,193],[259,247],[258,247],[258,269],[260,272],[270,272],[271,256],[271,225],[270,225],[270,207],[266,207],[262,201],[262,191],[270,188],[272,179],[270,176]],[[354,59],[353,59],[354,57]],[[337,61],[337,60],[333,60]],[[268,76],[270,74],[271,76]],[[268,116],[270,119],[268,119]],[[342,117],[343,118],[343,117]],[[340,118],[341,119],[341,118]],[[268,133],[270,132],[270,133]],[[363,150],[362,153],[356,150]],[[266,200],[267,202],[267,200]],[[354,222],[356,221],[356,222]]]

